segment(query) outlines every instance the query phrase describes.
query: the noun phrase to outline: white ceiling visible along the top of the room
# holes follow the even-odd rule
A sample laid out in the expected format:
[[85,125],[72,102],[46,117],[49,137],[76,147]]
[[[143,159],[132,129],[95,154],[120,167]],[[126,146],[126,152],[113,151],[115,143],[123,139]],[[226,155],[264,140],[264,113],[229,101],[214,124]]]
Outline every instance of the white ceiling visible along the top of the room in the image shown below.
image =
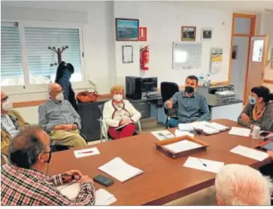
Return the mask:
[[[147,1],[147,0],[146,0]],[[271,1],[160,1],[163,4],[177,6],[194,6],[216,8],[233,12],[265,13],[265,9],[273,11]],[[94,3],[94,2],[93,2]],[[1,6],[17,6],[27,8],[48,8],[71,11],[87,11],[94,6],[90,1],[1,1]]]

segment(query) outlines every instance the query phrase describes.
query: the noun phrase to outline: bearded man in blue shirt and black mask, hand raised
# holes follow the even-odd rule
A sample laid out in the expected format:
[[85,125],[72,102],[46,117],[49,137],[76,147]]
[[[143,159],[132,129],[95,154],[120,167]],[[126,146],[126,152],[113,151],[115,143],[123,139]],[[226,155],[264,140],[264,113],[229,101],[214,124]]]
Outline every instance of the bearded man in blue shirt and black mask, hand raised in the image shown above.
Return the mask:
[[206,98],[195,92],[198,84],[196,76],[188,76],[185,83],[185,91],[175,93],[164,104],[166,109],[177,109],[178,120],[169,119],[169,128],[179,126],[179,123],[192,123],[195,121],[209,121],[211,114]]

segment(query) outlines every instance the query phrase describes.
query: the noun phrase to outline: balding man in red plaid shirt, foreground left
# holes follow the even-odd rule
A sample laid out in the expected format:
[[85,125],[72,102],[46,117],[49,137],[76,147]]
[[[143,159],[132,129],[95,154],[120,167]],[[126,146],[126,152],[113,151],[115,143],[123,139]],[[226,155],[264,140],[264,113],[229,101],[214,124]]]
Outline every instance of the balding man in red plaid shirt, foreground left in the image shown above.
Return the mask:
[[[42,172],[50,163],[50,138],[38,127],[29,126],[15,137],[8,148],[10,163],[1,168],[1,205],[94,205],[94,185],[78,170],[62,175]],[[80,192],[75,200],[55,187],[78,180]]]

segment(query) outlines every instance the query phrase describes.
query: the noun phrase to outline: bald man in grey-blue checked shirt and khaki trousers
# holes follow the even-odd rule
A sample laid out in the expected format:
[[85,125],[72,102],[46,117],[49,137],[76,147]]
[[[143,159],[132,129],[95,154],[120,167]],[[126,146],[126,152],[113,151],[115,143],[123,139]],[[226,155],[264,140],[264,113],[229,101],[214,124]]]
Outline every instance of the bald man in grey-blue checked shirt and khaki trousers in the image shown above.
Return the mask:
[[62,86],[50,83],[49,100],[38,108],[38,124],[56,144],[68,147],[85,147],[80,136],[80,116],[68,100],[64,100]]

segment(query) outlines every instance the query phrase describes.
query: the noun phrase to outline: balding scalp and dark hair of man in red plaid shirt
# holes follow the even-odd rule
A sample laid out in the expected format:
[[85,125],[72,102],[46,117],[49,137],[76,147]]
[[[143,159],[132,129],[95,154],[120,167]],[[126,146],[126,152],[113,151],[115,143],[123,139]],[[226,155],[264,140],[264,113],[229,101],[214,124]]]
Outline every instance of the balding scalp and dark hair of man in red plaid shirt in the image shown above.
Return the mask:
[[19,168],[31,168],[37,162],[38,154],[45,150],[45,145],[39,139],[42,131],[38,126],[28,126],[11,140],[8,147],[8,159]]

